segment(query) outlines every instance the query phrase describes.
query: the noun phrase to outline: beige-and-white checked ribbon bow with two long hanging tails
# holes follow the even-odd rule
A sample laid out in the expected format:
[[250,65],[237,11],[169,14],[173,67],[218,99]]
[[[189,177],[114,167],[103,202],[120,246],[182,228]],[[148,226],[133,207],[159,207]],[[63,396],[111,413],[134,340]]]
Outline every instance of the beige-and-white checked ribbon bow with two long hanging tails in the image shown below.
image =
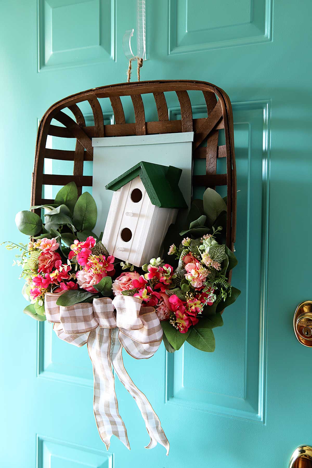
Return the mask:
[[[130,450],[127,430],[119,415],[113,369],[133,396],[151,438],[145,448],[157,442],[167,454],[169,442],[160,420],[146,396],[134,385],[123,365],[123,348],[136,359],[147,359],[158,350],[162,340],[160,321],[153,307],[141,307],[141,300],[118,295],[94,299],[93,303],[58,306],[62,293],[46,293],[44,308],[58,338],[75,346],[87,343],[94,375],[94,417],[107,450],[115,435]],[[116,310],[114,310],[114,308]]]

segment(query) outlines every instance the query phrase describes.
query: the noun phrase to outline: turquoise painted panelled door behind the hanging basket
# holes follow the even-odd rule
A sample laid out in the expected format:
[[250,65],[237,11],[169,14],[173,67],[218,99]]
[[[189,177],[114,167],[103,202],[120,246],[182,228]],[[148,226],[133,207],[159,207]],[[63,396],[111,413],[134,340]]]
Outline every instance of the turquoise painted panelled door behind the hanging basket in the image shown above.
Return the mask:
[[[215,353],[186,344],[174,355],[161,347],[151,361],[125,359],[160,417],[169,457],[161,446],[144,449],[144,422],[119,384],[131,452],[112,438],[107,453],[94,422],[86,347],[58,340],[48,323],[22,314],[22,281],[3,249],[3,468],[283,468],[298,445],[312,445],[312,350],[292,329],[295,307],[312,299],[311,2],[146,3],[142,79],[210,81],[233,102],[233,282],[242,294],[216,330]],[[135,25],[135,0],[1,1],[0,16],[1,240],[22,241],[14,216],[29,208],[38,119],[66,95],[125,80],[122,37]],[[176,116],[177,101],[168,105]],[[193,111],[204,117],[199,98]],[[103,112],[112,118],[111,109]],[[47,163],[45,170],[68,167]]]

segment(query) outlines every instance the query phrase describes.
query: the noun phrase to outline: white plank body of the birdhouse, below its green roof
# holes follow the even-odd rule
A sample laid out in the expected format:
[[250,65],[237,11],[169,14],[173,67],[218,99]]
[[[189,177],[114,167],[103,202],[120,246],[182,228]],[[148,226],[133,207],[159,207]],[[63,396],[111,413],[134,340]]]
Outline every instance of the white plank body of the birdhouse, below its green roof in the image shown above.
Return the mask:
[[153,205],[140,176],[136,176],[114,191],[102,242],[110,255],[141,266],[160,255],[177,212],[177,208]]

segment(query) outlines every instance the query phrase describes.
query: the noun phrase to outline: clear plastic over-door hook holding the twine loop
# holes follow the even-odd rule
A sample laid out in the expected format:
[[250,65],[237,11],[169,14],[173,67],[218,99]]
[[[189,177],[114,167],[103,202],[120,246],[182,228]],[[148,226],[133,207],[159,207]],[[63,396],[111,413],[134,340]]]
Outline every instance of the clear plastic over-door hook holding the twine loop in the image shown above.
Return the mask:
[[131,47],[134,29],[127,29],[123,35],[123,52],[128,60],[139,58],[146,60],[145,46],[145,0],[137,0],[137,53]]

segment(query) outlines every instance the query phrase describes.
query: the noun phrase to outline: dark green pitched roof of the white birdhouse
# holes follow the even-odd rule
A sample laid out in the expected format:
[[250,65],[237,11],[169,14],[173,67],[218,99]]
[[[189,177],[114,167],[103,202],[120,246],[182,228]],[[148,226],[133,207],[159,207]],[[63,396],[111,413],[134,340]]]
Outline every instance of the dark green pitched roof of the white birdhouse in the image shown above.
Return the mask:
[[161,166],[141,161],[124,172],[105,188],[114,192],[139,176],[152,205],[160,208],[187,208],[187,203],[179,189],[182,169],[174,166]]

